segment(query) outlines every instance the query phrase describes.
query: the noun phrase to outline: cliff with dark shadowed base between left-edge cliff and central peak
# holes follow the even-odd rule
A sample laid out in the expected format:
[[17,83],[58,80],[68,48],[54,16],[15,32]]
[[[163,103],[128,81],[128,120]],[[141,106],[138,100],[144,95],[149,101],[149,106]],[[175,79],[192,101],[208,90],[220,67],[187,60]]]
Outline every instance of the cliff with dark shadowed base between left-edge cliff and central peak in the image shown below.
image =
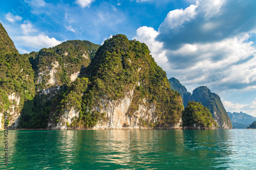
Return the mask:
[[[50,116],[57,121],[55,117],[60,112],[70,109],[63,100],[71,102],[70,106],[78,102],[77,109],[80,109],[79,91],[84,91],[81,88],[86,89],[87,83],[76,77],[73,78],[76,81],[71,80],[72,74],[78,76],[90,64],[91,54],[94,55],[99,46],[89,41],[70,40],[28,55],[35,72],[36,95],[25,103],[18,128],[47,128]],[[52,116],[51,112],[56,113]]]

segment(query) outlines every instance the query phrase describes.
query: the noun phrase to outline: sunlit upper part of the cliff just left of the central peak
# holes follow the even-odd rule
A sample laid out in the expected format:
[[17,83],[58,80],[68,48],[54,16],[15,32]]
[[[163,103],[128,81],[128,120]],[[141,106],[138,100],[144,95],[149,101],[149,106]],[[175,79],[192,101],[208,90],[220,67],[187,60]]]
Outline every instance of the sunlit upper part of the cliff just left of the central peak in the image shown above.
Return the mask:
[[[32,52],[30,62],[35,70],[37,90],[70,83],[72,74],[90,64],[91,56],[98,47],[89,41],[70,40],[52,48],[42,48],[37,53]],[[50,81],[50,74],[53,82]]]

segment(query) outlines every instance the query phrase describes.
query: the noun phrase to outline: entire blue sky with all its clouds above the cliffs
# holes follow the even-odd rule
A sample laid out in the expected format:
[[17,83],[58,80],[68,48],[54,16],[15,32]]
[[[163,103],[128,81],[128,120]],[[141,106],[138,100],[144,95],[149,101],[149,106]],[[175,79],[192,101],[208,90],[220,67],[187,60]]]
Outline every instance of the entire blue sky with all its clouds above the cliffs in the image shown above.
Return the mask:
[[1,2],[0,22],[22,54],[124,34],[147,44],[168,79],[256,116],[255,0],[13,0]]

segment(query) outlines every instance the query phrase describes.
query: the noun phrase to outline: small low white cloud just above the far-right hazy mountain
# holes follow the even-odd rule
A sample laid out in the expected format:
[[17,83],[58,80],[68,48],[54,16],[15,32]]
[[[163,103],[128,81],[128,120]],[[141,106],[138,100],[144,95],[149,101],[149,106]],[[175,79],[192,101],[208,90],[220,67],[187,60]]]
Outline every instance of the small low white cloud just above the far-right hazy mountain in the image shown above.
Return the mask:
[[256,117],[256,98],[250,104],[239,104],[230,101],[224,101],[223,105],[227,111],[230,112],[244,112]]

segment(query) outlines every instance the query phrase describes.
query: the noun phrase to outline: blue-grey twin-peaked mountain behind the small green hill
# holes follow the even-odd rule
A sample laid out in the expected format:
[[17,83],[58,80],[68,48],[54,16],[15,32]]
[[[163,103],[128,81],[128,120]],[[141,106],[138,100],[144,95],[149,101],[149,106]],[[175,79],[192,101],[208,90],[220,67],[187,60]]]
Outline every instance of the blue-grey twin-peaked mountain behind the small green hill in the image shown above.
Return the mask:
[[183,99],[184,107],[187,106],[188,101],[200,102],[203,106],[206,106],[212,117],[216,120],[219,128],[230,129],[232,128],[231,121],[227,115],[227,112],[221,102],[220,96],[216,93],[212,93],[206,86],[201,86],[193,91],[193,94],[187,91],[187,89],[175,78],[169,79],[172,89],[177,90]]

